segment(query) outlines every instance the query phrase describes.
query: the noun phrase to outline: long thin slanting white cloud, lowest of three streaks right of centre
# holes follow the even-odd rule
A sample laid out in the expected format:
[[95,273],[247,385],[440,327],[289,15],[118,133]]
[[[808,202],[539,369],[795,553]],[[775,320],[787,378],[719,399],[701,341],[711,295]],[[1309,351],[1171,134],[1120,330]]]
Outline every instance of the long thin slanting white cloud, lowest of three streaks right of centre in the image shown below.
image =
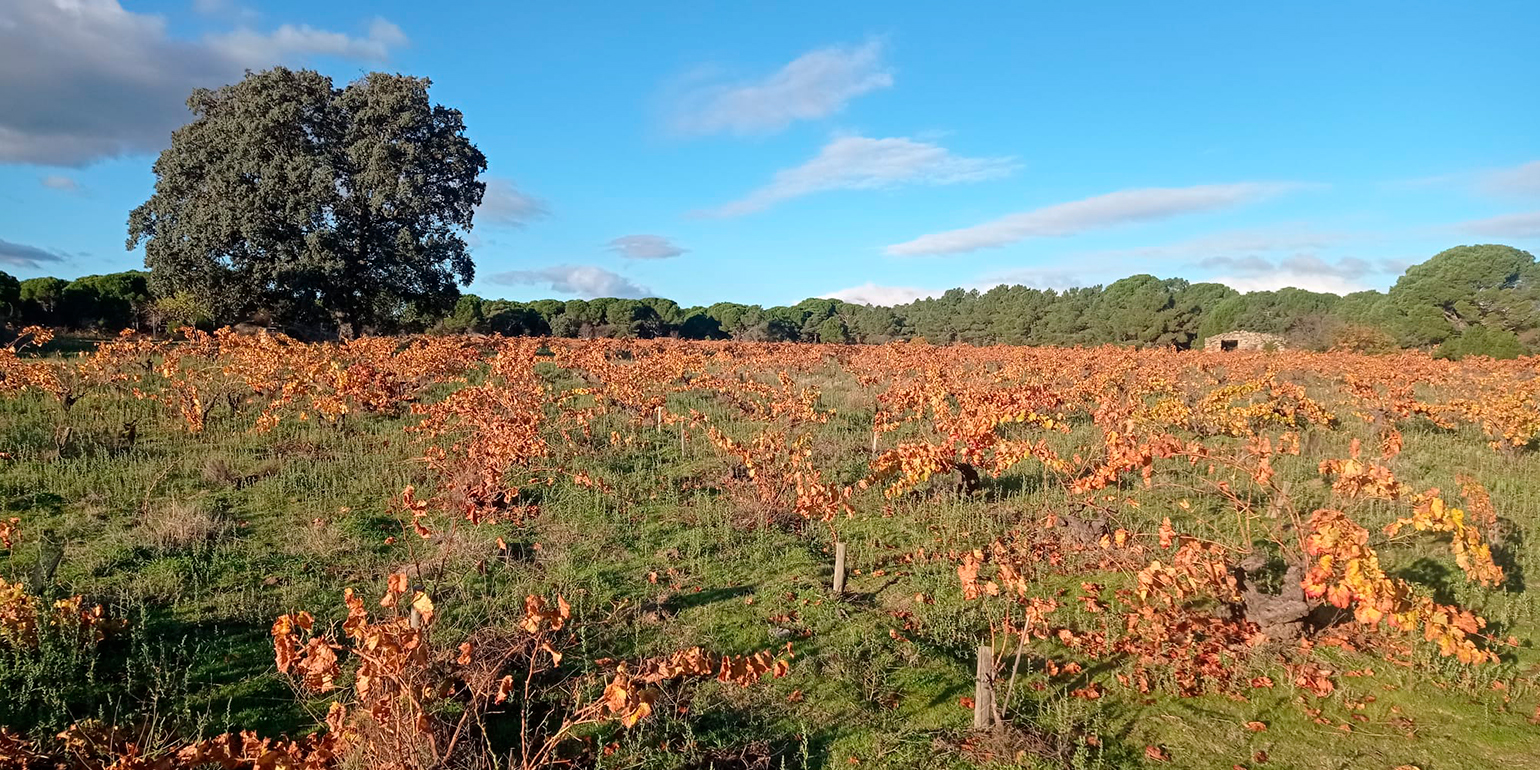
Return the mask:
[[1123,189],[1104,196],[1056,203],[984,222],[962,229],[932,233],[887,246],[893,256],[962,254],[1004,246],[1032,237],[1075,236],[1133,222],[1152,222],[1183,214],[1217,211],[1250,203],[1286,189],[1291,183],[1241,182],[1187,188]]

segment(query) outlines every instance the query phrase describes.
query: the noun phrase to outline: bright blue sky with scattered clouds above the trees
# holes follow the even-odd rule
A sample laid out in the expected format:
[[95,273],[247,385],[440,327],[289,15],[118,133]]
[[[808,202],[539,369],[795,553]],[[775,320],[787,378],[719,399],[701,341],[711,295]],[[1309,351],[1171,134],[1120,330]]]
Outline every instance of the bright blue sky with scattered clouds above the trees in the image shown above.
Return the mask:
[[1384,288],[1540,248],[1540,3],[0,0],[0,270],[125,251],[196,86],[427,75],[488,297]]

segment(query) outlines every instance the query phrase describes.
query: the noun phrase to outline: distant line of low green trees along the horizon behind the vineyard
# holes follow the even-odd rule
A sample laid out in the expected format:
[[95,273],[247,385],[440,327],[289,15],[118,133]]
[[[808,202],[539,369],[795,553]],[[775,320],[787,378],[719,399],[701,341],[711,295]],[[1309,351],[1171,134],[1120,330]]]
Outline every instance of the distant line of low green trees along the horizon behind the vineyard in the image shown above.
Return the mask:
[[[0,274],[0,306],[20,323],[117,330],[271,319],[214,319],[185,294],[156,297],[146,273],[17,282]],[[1278,334],[1309,350],[1424,348],[1449,357],[1512,357],[1540,348],[1540,266],[1500,245],[1458,246],[1408,268],[1386,293],[1284,288],[1237,293],[1220,283],[1132,276],[1106,286],[950,290],[896,306],[807,299],[790,306],[670,299],[459,297],[442,317],[402,313],[373,331],[559,337],[684,337],[753,342],[969,345],[1135,345],[1192,348],[1232,330]],[[300,331],[305,330],[288,330]]]

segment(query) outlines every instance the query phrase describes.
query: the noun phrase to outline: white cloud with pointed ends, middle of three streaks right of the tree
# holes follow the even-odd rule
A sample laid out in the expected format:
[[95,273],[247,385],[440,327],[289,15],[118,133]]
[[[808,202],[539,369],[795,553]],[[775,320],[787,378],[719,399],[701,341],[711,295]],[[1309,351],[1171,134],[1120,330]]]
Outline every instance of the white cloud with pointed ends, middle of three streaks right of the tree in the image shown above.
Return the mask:
[[836,137],[807,163],[776,171],[768,185],[702,214],[736,217],[829,189],[956,185],[1003,177],[1015,169],[1012,157],[959,157],[944,146],[907,137]]

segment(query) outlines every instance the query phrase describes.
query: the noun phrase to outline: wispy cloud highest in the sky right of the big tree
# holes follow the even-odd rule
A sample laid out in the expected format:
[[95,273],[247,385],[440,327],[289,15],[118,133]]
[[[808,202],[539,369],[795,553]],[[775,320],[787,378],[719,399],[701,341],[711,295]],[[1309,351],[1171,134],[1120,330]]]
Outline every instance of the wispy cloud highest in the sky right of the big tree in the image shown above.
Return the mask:
[[892,85],[881,42],[821,48],[762,80],[685,83],[673,97],[670,126],[688,136],[765,134],[832,116],[852,99]]

